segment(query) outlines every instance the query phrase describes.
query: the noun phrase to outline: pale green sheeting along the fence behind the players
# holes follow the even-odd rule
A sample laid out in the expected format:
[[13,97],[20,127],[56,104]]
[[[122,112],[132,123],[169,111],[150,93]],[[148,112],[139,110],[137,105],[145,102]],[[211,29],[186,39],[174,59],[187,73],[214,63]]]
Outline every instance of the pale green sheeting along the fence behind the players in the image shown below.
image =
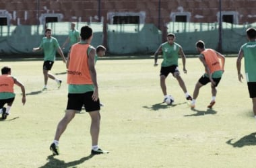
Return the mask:
[[[77,22],[76,28],[88,25]],[[57,22],[46,25],[62,45],[67,38],[70,23]],[[32,54],[32,48],[39,45],[44,36],[44,25],[40,26],[0,26],[0,54]],[[92,45],[103,42],[103,24],[91,23],[94,30]],[[176,34],[176,42],[183,46],[187,54],[195,53],[195,42],[203,40],[207,48],[218,48],[218,23],[181,23],[166,24],[167,32]],[[223,52],[238,52],[240,46],[247,42],[245,30],[256,27],[254,24],[222,24]],[[150,54],[162,43],[162,32],[153,24],[121,24],[106,26],[106,44],[109,54]],[[64,50],[67,52],[67,49]]]

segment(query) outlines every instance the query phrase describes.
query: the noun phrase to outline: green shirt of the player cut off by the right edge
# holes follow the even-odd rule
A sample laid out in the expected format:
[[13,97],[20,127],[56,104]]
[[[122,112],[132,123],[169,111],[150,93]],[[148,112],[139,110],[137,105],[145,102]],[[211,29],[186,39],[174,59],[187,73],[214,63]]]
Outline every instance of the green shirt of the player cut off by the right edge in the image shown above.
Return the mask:
[[245,57],[245,75],[247,82],[256,82],[256,41],[241,46]]

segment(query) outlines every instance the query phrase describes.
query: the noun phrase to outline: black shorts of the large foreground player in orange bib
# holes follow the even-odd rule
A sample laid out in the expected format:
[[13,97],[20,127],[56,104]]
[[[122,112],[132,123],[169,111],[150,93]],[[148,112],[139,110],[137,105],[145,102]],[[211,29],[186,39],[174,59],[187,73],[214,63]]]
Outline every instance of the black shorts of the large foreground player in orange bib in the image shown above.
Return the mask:
[[82,106],[86,109],[86,112],[93,112],[100,110],[100,99],[97,101],[92,100],[93,91],[86,93],[69,93],[67,95],[67,110],[81,111]]

